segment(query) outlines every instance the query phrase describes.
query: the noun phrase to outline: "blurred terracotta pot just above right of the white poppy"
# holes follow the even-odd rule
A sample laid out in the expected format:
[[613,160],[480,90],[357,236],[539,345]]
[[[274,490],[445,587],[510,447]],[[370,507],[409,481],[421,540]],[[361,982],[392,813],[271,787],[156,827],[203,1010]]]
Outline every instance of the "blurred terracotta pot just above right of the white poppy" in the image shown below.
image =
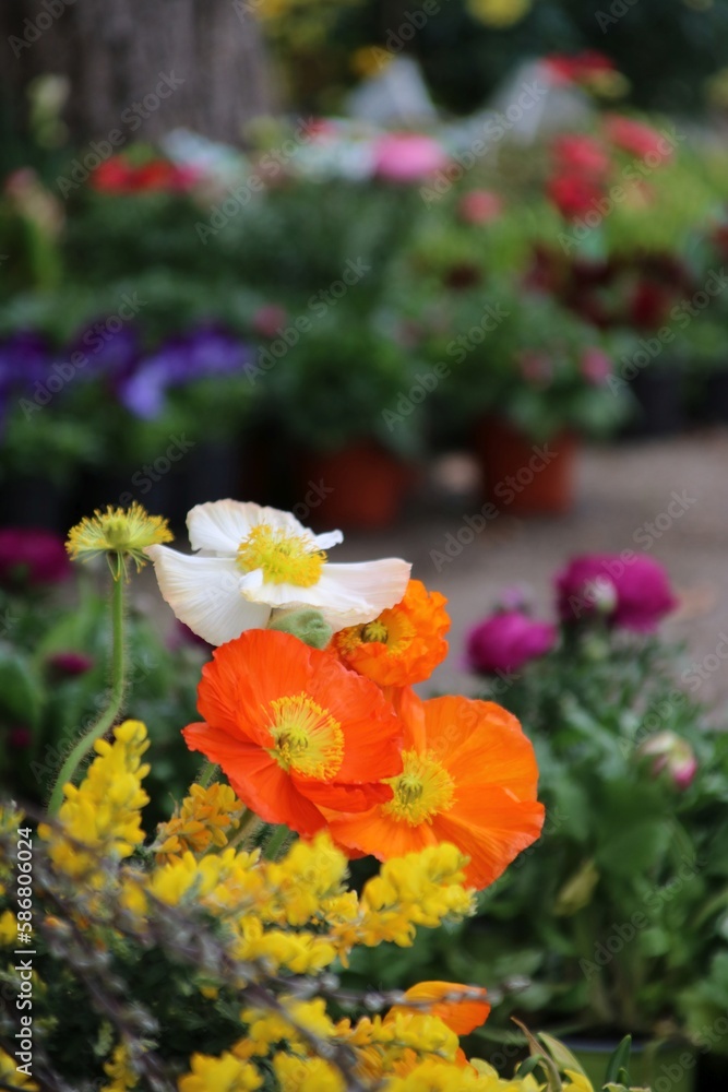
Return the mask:
[[335,452],[303,453],[298,471],[294,514],[302,523],[327,530],[389,526],[399,513],[411,476],[404,463],[371,440]]

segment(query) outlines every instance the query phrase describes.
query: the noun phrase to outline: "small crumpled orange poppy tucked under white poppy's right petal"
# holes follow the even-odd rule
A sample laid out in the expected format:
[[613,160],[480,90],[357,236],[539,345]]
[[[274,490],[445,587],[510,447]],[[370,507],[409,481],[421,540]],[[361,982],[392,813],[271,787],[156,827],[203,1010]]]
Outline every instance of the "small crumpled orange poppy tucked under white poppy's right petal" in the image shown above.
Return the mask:
[[430,677],[447,655],[447,600],[410,580],[404,598],[366,626],[334,636],[341,660],[380,686],[411,686]]

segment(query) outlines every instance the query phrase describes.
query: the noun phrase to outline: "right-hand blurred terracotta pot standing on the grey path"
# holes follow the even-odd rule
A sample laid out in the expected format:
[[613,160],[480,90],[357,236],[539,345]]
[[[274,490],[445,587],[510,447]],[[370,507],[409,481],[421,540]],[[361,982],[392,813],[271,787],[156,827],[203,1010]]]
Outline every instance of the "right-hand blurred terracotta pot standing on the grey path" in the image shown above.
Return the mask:
[[578,439],[560,432],[535,443],[512,425],[489,417],[477,430],[486,499],[518,515],[568,512],[574,502]]

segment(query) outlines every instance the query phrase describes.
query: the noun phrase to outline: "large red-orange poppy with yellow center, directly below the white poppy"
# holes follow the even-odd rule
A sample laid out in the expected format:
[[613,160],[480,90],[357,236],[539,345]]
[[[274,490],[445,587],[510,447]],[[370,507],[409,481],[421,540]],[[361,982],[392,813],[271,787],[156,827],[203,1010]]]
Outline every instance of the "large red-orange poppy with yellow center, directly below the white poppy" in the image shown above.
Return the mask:
[[311,835],[321,807],[358,811],[392,795],[402,725],[381,690],[290,633],[251,629],[202,669],[204,723],[183,736],[266,822]]

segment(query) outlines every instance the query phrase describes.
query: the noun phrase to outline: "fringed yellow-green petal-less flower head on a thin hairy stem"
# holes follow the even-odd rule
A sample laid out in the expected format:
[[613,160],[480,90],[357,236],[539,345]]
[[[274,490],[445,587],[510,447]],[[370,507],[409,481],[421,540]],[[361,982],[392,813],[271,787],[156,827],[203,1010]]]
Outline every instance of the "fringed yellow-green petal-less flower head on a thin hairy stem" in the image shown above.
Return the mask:
[[167,521],[160,515],[150,515],[136,501],[131,508],[112,508],[105,512],[96,509],[71,527],[65,548],[73,560],[87,561],[100,554],[109,555],[109,568],[115,580],[126,575],[126,558],[130,557],[136,571],[146,565],[147,546],[169,543],[174,538]]

